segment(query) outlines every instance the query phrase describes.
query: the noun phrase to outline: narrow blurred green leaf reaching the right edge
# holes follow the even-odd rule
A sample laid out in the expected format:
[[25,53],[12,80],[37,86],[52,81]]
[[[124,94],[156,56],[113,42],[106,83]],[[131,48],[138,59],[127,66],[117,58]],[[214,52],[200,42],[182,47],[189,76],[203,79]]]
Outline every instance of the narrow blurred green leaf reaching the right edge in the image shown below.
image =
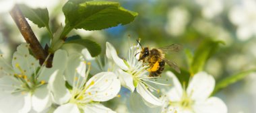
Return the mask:
[[224,87],[227,87],[228,85],[231,85],[232,83],[236,83],[237,81],[240,81],[241,79],[244,79],[252,72],[255,72],[256,69],[250,69],[248,71],[243,71],[241,73],[238,73],[236,75],[232,75],[230,77],[226,77],[225,79],[222,79],[220,82],[216,83],[216,86],[214,88],[214,91],[212,92],[212,96],[220,91],[220,89],[223,89]]

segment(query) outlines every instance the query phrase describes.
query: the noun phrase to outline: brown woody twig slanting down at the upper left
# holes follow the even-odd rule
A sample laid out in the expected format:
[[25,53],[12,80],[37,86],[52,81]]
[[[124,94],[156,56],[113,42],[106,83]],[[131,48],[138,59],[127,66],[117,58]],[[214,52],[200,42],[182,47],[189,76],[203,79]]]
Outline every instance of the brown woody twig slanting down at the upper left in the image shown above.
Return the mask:
[[[22,14],[22,11],[20,11],[18,5],[15,5],[9,13],[13,20],[15,21],[16,25],[18,26],[26,42],[30,44],[30,48],[34,53],[36,59],[39,59],[40,64],[42,65],[42,63],[44,63],[48,55],[48,52],[46,52],[46,50],[44,50],[40,45],[38,39],[34,35],[34,32],[30,28],[30,25],[28,24],[24,15]],[[49,63],[47,63],[46,65],[48,65],[47,67],[51,67],[51,64]]]

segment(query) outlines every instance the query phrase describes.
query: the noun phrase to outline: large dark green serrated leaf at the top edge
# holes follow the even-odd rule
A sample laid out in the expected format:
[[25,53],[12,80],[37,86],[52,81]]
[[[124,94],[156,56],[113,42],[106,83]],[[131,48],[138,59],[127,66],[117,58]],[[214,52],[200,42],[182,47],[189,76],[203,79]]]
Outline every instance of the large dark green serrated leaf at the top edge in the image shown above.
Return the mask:
[[102,30],[125,25],[132,22],[137,13],[128,11],[112,1],[82,1],[70,0],[63,7],[66,26],[63,36],[73,28],[84,30]]

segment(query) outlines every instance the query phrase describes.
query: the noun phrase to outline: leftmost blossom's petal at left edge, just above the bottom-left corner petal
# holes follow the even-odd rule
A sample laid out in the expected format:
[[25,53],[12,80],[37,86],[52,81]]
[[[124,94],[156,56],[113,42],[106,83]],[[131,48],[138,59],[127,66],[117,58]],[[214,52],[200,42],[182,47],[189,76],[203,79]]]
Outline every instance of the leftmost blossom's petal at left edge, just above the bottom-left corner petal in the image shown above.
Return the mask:
[[0,90],[11,93],[16,89],[17,86],[20,86],[20,82],[10,75],[0,78]]

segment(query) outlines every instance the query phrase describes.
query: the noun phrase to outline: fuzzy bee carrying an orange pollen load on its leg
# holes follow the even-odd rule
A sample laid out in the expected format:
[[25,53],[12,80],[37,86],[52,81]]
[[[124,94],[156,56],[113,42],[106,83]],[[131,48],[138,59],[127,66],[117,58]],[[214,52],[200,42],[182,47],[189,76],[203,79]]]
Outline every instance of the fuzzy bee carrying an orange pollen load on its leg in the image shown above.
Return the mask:
[[[139,43],[138,40],[137,42]],[[139,46],[141,46],[140,43]],[[171,44],[169,46],[164,46],[162,48],[152,48],[151,50],[148,47],[143,48],[143,46],[141,46],[141,52],[137,53],[140,53],[138,61],[142,61],[143,64],[149,65],[148,71],[150,72],[150,77],[160,76],[162,71],[164,71],[164,65],[166,64],[172,67],[172,69],[174,69],[178,73],[181,73],[176,63],[168,59],[165,59],[164,57],[164,52],[178,52],[179,50],[181,50],[181,48],[182,46],[180,44]],[[137,54],[135,54],[135,56]]]

